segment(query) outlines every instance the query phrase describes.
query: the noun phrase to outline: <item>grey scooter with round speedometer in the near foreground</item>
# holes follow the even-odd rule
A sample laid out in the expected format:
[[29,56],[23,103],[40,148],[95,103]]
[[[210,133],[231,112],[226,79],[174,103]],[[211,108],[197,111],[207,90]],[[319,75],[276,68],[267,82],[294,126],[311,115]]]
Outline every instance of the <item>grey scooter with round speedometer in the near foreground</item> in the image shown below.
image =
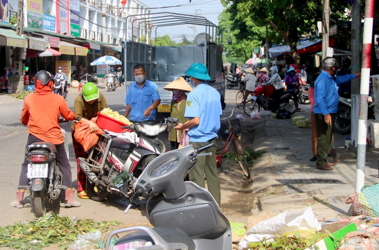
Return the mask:
[[[136,226],[114,230],[108,234],[102,249],[124,249],[123,245],[132,241],[151,242],[152,245],[146,249],[157,250],[232,249],[229,221],[215,199],[207,189],[183,180],[196,167],[198,157],[211,154],[200,152],[214,146],[214,143],[200,148],[188,145],[150,162],[135,181],[135,193],[124,212],[127,213],[139,196],[149,199],[147,214],[154,228]],[[122,188],[132,178],[125,173],[119,179],[122,181],[117,182],[117,186]],[[134,232],[118,239],[110,247],[110,241],[116,234],[130,231]]]

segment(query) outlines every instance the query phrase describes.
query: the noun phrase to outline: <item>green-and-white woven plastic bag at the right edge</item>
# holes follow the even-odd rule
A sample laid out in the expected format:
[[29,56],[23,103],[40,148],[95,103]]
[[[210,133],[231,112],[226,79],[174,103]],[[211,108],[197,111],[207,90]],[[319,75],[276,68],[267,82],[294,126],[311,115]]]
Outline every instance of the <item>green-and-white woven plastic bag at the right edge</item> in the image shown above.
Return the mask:
[[364,214],[366,216],[379,216],[379,184],[364,185],[359,193],[349,196],[346,204],[351,203],[348,216],[356,216]]

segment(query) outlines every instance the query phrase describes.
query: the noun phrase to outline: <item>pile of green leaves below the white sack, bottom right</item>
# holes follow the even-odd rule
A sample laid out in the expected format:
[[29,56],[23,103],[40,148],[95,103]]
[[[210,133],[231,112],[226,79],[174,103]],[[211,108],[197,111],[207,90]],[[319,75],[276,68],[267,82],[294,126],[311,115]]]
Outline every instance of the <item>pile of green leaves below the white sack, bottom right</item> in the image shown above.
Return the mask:
[[296,230],[293,234],[276,234],[272,238],[266,239],[263,238],[262,241],[250,242],[247,248],[244,250],[301,250],[306,247],[314,245],[315,250],[318,250],[319,247],[315,243],[327,235],[332,235],[328,233],[301,233],[303,230]]

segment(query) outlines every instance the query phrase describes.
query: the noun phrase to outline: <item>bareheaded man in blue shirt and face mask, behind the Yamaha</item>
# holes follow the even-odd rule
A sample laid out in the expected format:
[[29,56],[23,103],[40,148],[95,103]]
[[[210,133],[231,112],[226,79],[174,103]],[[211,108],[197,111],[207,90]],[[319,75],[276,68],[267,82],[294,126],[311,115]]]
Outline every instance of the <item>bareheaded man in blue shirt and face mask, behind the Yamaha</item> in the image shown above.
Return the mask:
[[137,64],[134,67],[133,82],[125,97],[125,117],[130,113],[132,123],[155,120],[157,107],[161,103],[158,86],[146,79],[145,67]]

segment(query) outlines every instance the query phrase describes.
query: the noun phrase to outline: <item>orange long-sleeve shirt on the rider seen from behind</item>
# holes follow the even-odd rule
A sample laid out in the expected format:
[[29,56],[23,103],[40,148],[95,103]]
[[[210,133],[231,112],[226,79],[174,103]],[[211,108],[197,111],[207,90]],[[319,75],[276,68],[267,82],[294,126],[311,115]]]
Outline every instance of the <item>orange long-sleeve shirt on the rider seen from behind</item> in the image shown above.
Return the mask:
[[59,126],[59,115],[66,120],[74,120],[75,113],[69,109],[62,96],[53,94],[51,90],[36,91],[37,93],[25,98],[21,122],[28,125],[30,134],[42,141],[61,144],[63,134]]

